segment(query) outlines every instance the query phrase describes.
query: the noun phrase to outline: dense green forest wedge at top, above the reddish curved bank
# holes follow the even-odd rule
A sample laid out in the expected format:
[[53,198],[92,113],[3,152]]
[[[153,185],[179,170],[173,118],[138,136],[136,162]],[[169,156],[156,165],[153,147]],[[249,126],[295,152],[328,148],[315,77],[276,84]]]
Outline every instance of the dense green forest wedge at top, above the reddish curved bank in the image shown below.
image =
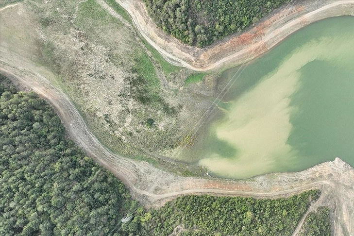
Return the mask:
[[166,34],[205,47],[241,32],[289,0],[144,0],[149,15]]

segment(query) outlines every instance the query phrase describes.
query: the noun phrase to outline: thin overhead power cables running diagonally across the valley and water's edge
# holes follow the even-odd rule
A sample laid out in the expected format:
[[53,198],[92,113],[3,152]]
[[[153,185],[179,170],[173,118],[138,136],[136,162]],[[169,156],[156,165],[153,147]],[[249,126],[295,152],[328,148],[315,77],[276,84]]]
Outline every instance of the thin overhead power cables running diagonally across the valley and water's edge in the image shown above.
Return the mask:
[[[284,9],[287,9],[289,6],[289,4],[292,1],[290,0],[287,3],[287,6]],[[294,5],[296,2],[296,0],[293,1],[292,5]],[[270,29],[267,31],[267,33],[263,36],[267,36],[269,34],[269,32],[274,28],[274,25],[272,25],[270,27]],[[234,76],[230,79],[230,81],[225,85],[225,87],[220,91],[219,95],[217,96],[217,98],[212,102],[212,104],[208,107],[208,109],[204,112],[204,114],[202,115],[202,117],[199,119],[199,121],[197,122],[197,124],[193,127],[193,129],[189,132],[189,134],[187,136],[193,137],[198,130],[202,127],[202,125],[204,124],[204,122],[206,121],[206,119],[212,114],[212,112],[214,111],[214,109],[218,106],[219,102],[222,100],[222,98],[226,95],[226,93],[230,90],[230,88],[233,86],[233,84],[235,84],[235,82],[238,80],[238,78],[241,76],[241,74],[243,73],[243,71],[248,67],[248,65],[250,64],[251,61],[248,61],[249,58],[251,57],[252,53],[256,50],[256,46],[250,46],[249,47],[249,51],[251,51],[248,55],[248,57],[245,59],[245,61],[242,63],[242,65],[237,69],[236,73],[234,74]],[[156,187],[157,185],[157,180],[161,179],[161,177],[163,177],[164,175],[168,174],[167,170],[171,168],[171,165],[174,163],[174,160],[181,154],[181,152],[185,149],[185,147],[187,146],[187,143],[185,144],[180,144],[180,146],[178,146],[176,148],[176,150],[172,153],[172,155],[169,157],[169,159],[167,160],[167,162],[163,165],[163,167],[161,169],[159,169],[159,171],[157,172],[157,174],[155,175],[155,178],[152,179],[152,181],[150,182],[150,184],[145,187],[145,189],[143,190],[143,192],[152,192],[152,190]],[[169,164],[168,164],[169,163]],[[174,168],[173,168],[174,169]],[[172,170],[173,170],[172,169]],[[164,173],[165,172],[165,173]],[[128,222],[130,219],[132,219],[134,212],[136,211],[136,209],[142,204],[142,202],[144,202],[144,200],[146,199],[147,195],[146,194],[140,194],[140,196],[138,197],[138,199],[136,200],[136,203],[133,204],[130,209],[128,210],[128,212],[124,215],[124,217],[117,223],[117,225],[112,229],[112,231],[108,234],[108,236],[111,236],[112,234],[115,234],[117,232],[119,232],[122,228],[122,226]],[[116,231],[118,225],[121,223],[120,227],[118,228],[118,230]]]

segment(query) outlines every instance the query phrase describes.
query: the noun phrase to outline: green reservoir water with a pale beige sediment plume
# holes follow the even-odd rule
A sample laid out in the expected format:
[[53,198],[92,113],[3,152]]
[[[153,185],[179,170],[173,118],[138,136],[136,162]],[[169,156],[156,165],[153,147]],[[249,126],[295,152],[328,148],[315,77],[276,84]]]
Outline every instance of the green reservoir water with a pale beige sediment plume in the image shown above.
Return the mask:
[[[223,87],[237,71],[224,71]],[[354,17],[315,22],[242,73],[181,159],[214,175],[300,171],[339,157],[354,166]]]

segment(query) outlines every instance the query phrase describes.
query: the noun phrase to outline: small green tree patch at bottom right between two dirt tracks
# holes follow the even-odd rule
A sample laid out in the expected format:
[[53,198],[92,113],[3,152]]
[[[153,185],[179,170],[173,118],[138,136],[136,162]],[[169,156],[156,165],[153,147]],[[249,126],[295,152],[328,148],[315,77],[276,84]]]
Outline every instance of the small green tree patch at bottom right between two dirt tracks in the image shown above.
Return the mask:
[[304,223],[301,236],[331,236],[329,208],[321,206],[316,212],[310,212]]

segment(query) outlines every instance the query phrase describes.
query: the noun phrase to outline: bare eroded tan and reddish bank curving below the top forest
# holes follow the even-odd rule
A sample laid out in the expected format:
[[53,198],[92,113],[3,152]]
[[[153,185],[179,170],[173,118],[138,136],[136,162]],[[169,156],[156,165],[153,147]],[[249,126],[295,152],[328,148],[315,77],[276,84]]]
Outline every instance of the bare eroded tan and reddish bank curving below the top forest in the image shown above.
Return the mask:
[[234,34],[206,48],[182,44],[165,35],[148,16],[142,1],[116,0],[132,17],[144,38],[170,63],[206,71],[232,67],[250,61],[269,51],[288,35],[315,21],[354,16],[354,0],[294,1],[257,23],[243,34]]

